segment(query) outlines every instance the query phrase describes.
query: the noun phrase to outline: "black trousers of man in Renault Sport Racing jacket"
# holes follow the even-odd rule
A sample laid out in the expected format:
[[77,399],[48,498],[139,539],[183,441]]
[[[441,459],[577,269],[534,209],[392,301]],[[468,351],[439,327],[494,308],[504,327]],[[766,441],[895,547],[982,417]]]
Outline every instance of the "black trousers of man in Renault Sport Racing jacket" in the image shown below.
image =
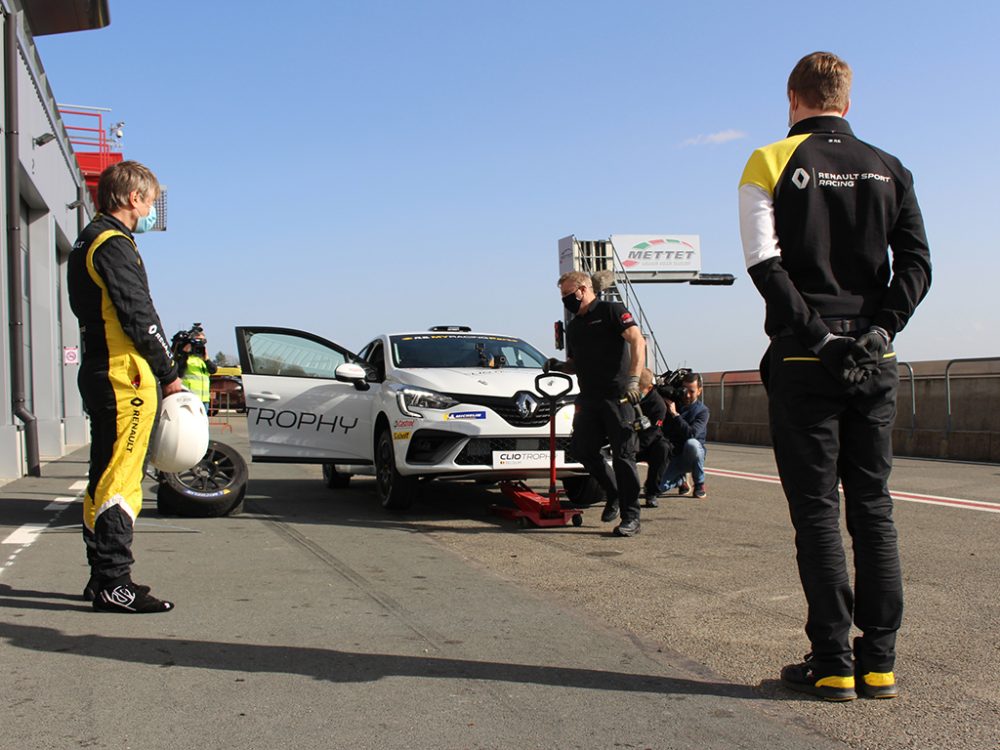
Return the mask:
[[[899,385],[895,353],[860,386],[840,383],[791,337],[773,341],[765,361],[774,456],[795,528],[813,659],[827,674],[853,674],[853,618],[863,633],[862,667],[892,671],[903,614],[888,490]],[[838,480],[854,549],[853,587]]]

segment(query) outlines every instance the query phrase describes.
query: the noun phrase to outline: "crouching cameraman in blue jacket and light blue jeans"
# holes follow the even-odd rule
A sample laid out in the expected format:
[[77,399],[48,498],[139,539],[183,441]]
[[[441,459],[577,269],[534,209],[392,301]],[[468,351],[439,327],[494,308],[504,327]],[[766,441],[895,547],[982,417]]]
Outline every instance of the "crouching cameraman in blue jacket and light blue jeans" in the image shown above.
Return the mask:
[[708,496],[705,491],[705,440],[709,412],[699,400],[701,390],[701,375],[689,372],[681,378],[680,385],[670,389],[664,397],[667,416],[663,422],[663,433],[670,441],[673,455],[660,480],[661,493],[676,487],[679,494],[687,495],[691,488],[685,477],[690,472],[694,496]]

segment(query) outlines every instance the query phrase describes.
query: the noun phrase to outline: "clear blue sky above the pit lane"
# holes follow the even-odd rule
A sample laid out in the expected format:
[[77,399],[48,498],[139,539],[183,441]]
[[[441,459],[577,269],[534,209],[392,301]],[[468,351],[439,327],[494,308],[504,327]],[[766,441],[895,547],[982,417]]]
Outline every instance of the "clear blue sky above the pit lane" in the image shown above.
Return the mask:
[[109,107],[169,189],[145,235],[167,329],[309,330],[354,350],[465,323],[554,353],[557,241],[697,234],[732,287],[649,285],[667,361],[756,366],[736,187],[786,132],[804,54],[854,68],[849,121],[913,171],[934,262],[909,361],[1000,354],[1000,11],[981,2],[110,0],[37,40],[60,102]]

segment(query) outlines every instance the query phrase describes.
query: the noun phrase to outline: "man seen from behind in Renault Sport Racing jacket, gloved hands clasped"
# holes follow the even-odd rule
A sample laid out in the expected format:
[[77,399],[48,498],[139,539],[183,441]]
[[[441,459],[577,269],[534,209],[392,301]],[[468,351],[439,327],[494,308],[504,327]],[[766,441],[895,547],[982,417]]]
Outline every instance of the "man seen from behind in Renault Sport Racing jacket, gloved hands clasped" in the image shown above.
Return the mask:
[[[739,188],[743,251],[767,308],[761,378],[812,644],[781,681],[827,700],[897,694],[903,587],[887,488],[899,382],[892,340],[931,281],[913,177],[854,136],[844,120],[850,86],[851,70],[836,55],[802,58],[788,79],[788,137],[750,156]],[[853,663],[852,616],[862,632]]]

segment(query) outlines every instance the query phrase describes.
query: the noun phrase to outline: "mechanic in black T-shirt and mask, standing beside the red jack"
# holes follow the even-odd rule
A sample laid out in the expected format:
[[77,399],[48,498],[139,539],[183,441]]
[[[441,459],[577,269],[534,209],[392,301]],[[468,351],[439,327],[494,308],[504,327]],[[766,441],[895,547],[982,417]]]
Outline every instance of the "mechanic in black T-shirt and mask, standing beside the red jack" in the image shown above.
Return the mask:
[[[639,373],[646,361],[646,340],[632,314],[618,302],[600,300],[589,274],[570,271],[559,277],[563,305],[574,317],[566,327],[566,361],[548,360],[546,370],[575,373],[580,384],[570,449],[604,489],[601,520],[621,512],[617,536],[639,533],[638,445],[632,429],[633,406],[642,399]],[[608,471],[601,448],[611,445]]]

